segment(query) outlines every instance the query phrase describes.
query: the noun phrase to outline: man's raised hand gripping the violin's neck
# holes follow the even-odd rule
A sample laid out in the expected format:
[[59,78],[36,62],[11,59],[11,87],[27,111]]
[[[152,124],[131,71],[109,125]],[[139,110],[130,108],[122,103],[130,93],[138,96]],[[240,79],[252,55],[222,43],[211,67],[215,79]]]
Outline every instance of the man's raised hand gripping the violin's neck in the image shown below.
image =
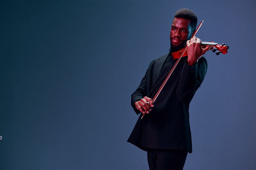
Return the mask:
[[187,41],[187,53],[188,53],[188,64],[193,66],[196,61],[200,59],[210,48],[210,46],[202,46],[201,39],[194,36],[192,39]]

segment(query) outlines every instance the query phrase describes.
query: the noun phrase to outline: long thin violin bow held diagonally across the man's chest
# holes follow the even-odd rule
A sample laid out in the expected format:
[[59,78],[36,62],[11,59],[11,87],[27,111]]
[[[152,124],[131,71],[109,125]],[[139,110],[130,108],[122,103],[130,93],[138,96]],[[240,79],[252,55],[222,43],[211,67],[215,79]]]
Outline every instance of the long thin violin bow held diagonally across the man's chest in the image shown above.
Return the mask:
[[[200,27],[202,26],[202,24],[204,23],[204,20],[202,20],[200,22],[200,24],[198,25],[198,27],[196,28],[196,31],[192,34],[191,39],[196,35],[196,33],[198,32],[198,30],[200,29]],[[190,39],[190,40],[191,40]],[[159,90],[157,91],[156,95],[154,96],[154,98],[152,99],[152,102],[154,103],[157,99],[157,97],[159,96],[160,92],[162,91],[162,89],[164,88],[164,85],[166,84],[166,82],[169,80],[170,76],[172,75],[174,69],[176,68],[176,66],[179,64],[180,59],[182,58],[182,56],[184,55],[184,53],[186,52],[186,50],[188,49],[188,46],[186,46],[186,48],[184,49],[184,51],[181,53],[179,59],[175,62],[174,66],[172,67],[172,70],[170,71],[170,73],[168,73],[168,76],[165,78],[163,84],[161,85],[161,87],[159,88]],[[145,116],[145,113],[143,113],[141,119]]]

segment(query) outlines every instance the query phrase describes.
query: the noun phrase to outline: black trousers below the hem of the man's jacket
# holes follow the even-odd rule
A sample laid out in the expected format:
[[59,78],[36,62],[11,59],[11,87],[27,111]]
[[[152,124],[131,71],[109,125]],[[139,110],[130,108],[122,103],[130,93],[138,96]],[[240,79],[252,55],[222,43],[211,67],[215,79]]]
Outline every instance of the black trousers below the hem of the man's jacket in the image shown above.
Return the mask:
[[150,170],[182,170],[187,150],[150,150],[147,152]]

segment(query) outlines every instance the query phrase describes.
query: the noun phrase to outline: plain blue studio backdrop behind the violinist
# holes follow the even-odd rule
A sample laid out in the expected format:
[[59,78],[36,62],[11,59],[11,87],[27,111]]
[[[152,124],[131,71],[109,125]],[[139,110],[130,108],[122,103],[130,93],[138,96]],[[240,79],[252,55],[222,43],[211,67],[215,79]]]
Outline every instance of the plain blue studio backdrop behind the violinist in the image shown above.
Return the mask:
[[180,8],[206,53],[184,169],[256,169],[255,1],[1,1],[0,169],[148,169],[130,106]]

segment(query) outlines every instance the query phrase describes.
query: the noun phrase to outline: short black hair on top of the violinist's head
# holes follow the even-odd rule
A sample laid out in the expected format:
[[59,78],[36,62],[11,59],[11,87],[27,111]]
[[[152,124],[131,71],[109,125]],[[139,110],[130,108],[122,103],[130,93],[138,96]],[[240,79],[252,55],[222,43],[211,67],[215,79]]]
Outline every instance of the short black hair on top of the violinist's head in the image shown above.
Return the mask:
[[187,20],[191,20],[191,27],[192,27],[192,32],[194,32],[196,30],[196,24],[197,24],[197,17],[196,17],[196,14],[187,9],[187,8],[184,8],[184,9],[180,9],[178,10],[176,13],[175,13],[175,16],[174,18],[177,17],[177,18],[185,18]]

